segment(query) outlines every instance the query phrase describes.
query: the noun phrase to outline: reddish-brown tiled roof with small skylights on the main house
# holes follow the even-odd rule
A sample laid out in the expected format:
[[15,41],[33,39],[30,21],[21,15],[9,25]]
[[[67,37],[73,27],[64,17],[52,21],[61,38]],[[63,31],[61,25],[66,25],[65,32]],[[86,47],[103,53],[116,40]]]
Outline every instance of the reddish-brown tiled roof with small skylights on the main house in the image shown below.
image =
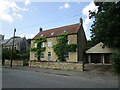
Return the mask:
[[42,32],[39,32],[33,39],[39,38],[39,37],[55,37],[58,36],[61,33],[68,32],[68,34],[75,34],[78,32],[80,28],[80,24],[73,24],[68,26],[63,26],[59,28],[49,29]]

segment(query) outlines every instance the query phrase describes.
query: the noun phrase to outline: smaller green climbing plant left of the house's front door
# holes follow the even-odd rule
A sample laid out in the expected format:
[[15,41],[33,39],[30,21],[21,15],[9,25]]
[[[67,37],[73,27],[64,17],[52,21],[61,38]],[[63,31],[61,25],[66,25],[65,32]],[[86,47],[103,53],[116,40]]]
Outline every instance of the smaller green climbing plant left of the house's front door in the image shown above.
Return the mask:
[[36,56],[37,56],[37,60],[40,61],[40,55],[41,52],[45,51],[45,47],[41,47],[43,42],[46,42],[46,38],[45,37],[40,37],[40,38],[36,38],[35,42],[37,44],[37,47],[34,48],[30,48],[31,52],[36,52]]

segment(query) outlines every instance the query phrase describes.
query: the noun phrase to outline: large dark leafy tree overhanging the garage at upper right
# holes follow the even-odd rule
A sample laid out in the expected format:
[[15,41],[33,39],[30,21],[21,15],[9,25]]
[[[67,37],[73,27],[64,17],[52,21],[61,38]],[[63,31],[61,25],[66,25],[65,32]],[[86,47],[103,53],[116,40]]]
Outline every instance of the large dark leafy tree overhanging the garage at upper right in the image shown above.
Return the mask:
[[120,48],[120,1],[95,2],[98,12],[90,11],[90,18],[95,18],[91,29],[94,43],[102,41],[106,46]]

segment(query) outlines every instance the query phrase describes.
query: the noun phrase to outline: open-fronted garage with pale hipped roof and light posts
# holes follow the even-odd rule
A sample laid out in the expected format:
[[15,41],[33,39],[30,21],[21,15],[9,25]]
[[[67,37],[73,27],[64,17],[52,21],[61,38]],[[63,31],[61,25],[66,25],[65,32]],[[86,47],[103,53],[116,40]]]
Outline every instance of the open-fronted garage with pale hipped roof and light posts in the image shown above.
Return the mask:
[[113,49],[106,47],[102,42],[91,47],[86,51],[86,62],[97,64],[109,64],[109,55],[113,52]]

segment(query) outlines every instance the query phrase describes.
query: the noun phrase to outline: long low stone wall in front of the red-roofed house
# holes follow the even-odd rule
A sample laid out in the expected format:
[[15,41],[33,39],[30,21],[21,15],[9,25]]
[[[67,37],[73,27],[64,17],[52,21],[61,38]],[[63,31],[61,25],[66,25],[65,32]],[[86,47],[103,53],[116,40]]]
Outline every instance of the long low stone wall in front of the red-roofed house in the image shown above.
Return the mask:
[[29,66],[56,70],[83,71],[82,63],[30,61]]

